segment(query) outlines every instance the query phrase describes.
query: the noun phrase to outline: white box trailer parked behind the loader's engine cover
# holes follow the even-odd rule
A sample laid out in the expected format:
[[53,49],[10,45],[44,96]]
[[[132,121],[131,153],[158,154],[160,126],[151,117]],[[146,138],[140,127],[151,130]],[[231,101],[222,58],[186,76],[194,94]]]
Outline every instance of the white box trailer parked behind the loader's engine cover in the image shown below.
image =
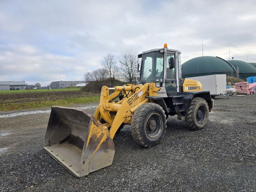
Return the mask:
[[199,81],[203,85],[203,90],[210,91],[212,97],[226,93],[226,74],[188,77],[187,79]]

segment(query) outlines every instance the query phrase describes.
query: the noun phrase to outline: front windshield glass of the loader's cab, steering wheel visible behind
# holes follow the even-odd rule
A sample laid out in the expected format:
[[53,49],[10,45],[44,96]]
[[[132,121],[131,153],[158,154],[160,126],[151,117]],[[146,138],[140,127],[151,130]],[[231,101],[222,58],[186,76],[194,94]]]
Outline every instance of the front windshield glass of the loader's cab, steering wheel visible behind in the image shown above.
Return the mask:
[[142,54],[140,83],[163,82],[164,52],[158,51]]

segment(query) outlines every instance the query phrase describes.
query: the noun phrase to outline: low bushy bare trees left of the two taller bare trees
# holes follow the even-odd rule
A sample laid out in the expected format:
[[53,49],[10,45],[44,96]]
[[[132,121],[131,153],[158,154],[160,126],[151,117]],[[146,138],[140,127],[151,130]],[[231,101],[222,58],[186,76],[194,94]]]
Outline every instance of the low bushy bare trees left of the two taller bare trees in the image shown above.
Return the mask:
[[84,80],[88,82],[103,82],[106,80],[108,72],[105,68],[98,68],[92,72],[87,72],[84,74]]

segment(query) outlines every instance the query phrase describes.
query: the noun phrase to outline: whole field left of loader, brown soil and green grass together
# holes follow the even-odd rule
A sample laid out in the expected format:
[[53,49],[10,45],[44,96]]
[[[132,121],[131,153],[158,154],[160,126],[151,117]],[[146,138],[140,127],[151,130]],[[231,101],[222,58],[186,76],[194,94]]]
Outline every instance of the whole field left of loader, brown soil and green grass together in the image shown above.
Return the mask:
[[100,101],[100,93],[83,92],[81,88],[83,87],[0,91],[0,111],[47,108],[53,105],[70,106]]

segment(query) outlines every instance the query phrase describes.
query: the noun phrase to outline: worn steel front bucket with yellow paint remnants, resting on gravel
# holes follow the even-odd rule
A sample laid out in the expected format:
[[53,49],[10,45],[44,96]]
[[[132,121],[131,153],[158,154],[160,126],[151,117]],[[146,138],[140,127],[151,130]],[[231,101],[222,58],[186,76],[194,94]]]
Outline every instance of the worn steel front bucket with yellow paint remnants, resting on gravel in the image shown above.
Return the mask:
[[78,108],[52,106],[44,146],[78,178],[111,165],[115,154],[108,128]]

